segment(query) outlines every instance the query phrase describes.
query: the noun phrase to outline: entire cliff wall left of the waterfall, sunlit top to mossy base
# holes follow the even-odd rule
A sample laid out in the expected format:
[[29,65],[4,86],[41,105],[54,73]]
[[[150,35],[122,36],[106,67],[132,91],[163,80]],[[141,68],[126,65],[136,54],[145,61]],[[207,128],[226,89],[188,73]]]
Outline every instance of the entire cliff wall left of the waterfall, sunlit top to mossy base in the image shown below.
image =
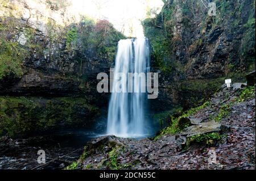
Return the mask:
[[1,1],[0,134],[89,127],[106,106],[96,76],[125,38],[69,1]]

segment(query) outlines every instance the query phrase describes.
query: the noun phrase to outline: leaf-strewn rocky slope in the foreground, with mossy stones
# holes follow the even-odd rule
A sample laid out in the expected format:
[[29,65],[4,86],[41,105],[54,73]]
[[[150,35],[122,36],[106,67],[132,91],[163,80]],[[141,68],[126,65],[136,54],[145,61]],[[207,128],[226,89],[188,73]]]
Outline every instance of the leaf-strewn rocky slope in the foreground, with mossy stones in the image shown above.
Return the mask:
[[176,120],[155,138],[96,138],[66,169],[255,169],[255,86],[222,88]]

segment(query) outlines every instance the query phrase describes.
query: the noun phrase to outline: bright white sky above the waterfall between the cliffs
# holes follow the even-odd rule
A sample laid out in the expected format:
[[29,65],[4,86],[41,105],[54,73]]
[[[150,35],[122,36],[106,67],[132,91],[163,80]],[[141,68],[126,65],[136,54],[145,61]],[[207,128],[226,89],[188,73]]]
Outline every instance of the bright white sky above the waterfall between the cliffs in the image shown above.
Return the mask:
[[[72,0],[72,3],[81,14],[108,19],[118,31],[133,37],[143,36],[140,20],[146,18],[147,7],[160,10],[163,6],[162,0]],[[100,11],[97,3],[102,5]]]

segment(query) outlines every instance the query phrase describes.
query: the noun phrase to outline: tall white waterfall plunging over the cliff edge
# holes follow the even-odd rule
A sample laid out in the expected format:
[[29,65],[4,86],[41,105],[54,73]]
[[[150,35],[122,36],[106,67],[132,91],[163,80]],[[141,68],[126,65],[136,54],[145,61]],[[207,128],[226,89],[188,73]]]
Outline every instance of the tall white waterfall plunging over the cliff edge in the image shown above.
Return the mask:
[[[146,38],[120,40],[112,90],[120,81],[118,73],[146,73],[150,66],[148,41]],[[122,83],[128,85],[127,79]],[[127,86],[126,86],[127,87]],[[107,133],[121,137],[141,137],[146,134],[144,109],[146,93],[141,92],[141,81],[134,79],[134,90],[139,92],[114,92],[109,103]]]

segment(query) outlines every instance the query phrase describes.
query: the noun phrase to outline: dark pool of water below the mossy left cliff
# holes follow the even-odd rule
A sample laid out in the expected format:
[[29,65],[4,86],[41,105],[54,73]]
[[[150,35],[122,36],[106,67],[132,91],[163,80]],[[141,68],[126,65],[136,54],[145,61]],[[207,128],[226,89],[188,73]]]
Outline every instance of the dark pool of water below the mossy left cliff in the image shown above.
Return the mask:
[[[2,144],[0,169],[63,169],[80,157],[87,141],[97,136],[98,134],[88,131],[60,132]],[[46,163],[49,162],[47,165],[38,163],[38,150],[45,151]]]

